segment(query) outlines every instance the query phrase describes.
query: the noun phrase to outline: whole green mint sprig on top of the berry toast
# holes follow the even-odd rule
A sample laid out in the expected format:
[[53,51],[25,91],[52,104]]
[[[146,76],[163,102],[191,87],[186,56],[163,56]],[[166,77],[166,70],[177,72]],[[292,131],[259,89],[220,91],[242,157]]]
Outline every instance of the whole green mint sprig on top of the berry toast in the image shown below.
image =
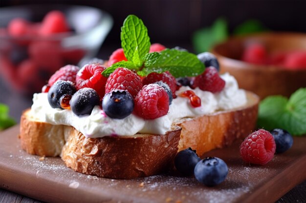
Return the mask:
[[197,76],[205,69],[196,55],[185,51],[168,49],[161,53],[149,53],[148,29],[134,15],[129,15],[121,27],[121,46],[128,61],[113,64],[102,73],[104,76],[109,76],[119,67],[133,70],[141,76],[169,71],[175,77]]

